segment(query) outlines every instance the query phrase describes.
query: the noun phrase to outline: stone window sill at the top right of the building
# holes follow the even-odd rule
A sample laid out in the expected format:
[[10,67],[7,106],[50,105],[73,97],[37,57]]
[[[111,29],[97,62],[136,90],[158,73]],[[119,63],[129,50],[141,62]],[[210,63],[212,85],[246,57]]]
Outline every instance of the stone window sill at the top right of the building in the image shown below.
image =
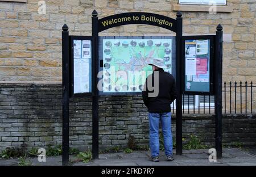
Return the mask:
[[[203,5],[172,5],[173,11],[197,11],[197,12],[208,12],[209,7]],[[232,6],[221,6],[217,5],[217,12],[232,12]]]

